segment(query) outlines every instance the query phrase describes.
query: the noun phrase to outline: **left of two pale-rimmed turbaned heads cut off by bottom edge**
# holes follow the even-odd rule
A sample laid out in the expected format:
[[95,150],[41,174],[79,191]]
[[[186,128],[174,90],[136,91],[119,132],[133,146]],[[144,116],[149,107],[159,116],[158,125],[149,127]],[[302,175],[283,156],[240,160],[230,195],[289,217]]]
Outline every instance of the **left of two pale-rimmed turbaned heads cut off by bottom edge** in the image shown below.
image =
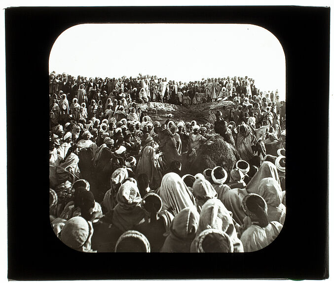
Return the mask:
[[150,252],[150,245],[142,233],[129,230],[118,238],[115,252]]

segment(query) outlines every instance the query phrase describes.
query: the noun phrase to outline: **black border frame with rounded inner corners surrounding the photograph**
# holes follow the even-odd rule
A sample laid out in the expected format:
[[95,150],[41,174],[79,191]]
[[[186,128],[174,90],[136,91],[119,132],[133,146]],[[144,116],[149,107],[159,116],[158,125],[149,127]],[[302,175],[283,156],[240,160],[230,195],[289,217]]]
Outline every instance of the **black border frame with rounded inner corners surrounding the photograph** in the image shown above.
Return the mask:
[[[244,23],[277,37],[287,64],[289,189],[286,222],[272,244],[256,253],[120,255],[80,253],[58,241],[45,201],[48,58],[64,30],[89,22]],[[8,279],[328,278],[329,23],[329,7],[7,8]]]

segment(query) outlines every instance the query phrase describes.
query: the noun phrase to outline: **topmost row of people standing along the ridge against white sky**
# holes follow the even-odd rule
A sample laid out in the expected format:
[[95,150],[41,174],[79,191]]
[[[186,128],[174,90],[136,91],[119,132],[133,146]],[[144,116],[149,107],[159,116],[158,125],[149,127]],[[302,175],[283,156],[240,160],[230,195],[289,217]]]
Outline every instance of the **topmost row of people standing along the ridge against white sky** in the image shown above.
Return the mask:
[[[77,76],[75,79],[66,73],[56,75],[52,72],[49,76],[49,92],[51,94],[65,93],[67,99],[72,102],[77,96],[77,103],[81,106],[85,103],[86,108],[95,100],[105,105],[108,97],[124,98],[127,103],[131,101],[145,102],[166,102],[178,105],[196,105],[206,102],[219,101],[223,99],[239,100],[245,99],[256,101],[257,97],[265,97],[268,107],[280,108],[278,91],[260,91],[255,86],[255,80],[243,77],[227,78],[204,78],[199,81],[168,81],[167,78],[157,76],[142,76],[137,78],[90,78]],[[77,94],[79,91],[79,94]],[[200,93],[204,93],[201,96]],[[243,96],[241,95],[243,94]],[[261,101],[262,102],[262,101]],[[260,103],[260,102],[258,102]]]

